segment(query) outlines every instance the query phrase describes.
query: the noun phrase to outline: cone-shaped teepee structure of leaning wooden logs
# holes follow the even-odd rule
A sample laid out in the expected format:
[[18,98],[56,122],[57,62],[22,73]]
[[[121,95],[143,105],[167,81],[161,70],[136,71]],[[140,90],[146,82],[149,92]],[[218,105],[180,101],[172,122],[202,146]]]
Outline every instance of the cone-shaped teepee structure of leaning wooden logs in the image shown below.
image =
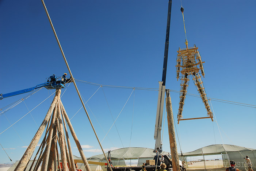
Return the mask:
[[81,148],[76,133],[74,132],[72,124],[70,123],[68,114],[66,113],[64,105],[60,100],[60,94],[61,89],[57,89],[45,119],[43,120],[30,145],[26,149],[24,155],[20,159],[18,165],[15,168],[15,171],[23,171],[27,168],[28,162],[34,153],[35,147],[37,146],[43,132],[45,131],[45,128],[45,136],[35,155],[32,166],[29,168],[29,171],[32,170],[36,158],[37,162],[34,165],[33,171],[37,171],[41,163],[41,171],[57,171],[60,169],[61,164],[60,158],[58,156],[58,145],[61,154],[62,170],[76,171],[67,126],[69,127],[80,155],[82,156],[86,171],[91,171],[88,161],[85,158],[83,149]]

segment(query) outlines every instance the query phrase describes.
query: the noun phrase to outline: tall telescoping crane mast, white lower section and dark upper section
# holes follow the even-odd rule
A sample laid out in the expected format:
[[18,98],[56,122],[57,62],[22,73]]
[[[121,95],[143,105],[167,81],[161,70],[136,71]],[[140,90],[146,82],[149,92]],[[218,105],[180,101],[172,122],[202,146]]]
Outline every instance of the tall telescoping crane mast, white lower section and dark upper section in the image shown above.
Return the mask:
[[167,15],[167,27],[166,27],[166,36],[165,36],[165,46],[164,46],[163,75],[162,75],[162,81],[159,81],[159,92],[158,92],[158,101],[157,101],[157,110],[156,110],[156,125],[155,125],[155,131],[154,131],[154,139],[156,140],[154,150],[156,151],[156,149],[159,149],[158,150],[159,152],[162,152],[161,129],[162,129],[162,118],[163,118],[163,109],[164,109],[167,59],[168,59],[168,50],[169,50],[171,10],[172,10],[172,0],[169,0],[169,2],[168,2],[168,15]]

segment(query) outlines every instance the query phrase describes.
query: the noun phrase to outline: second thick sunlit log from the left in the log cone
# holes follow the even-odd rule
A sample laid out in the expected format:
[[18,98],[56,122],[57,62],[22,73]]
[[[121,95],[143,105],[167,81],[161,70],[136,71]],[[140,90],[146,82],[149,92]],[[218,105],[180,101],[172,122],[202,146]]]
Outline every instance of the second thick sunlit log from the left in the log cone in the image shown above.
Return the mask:
[[[61,89],[57,90],[61,93]],[[58,96],[58,100],[59,100],[60,96]],[[51,142],[52,142],[52,137],[53,137],[53,130],[54,130],[54,123],[55,123],[55,118],[56,118],[56,113],[57,113],[57,105],[55,106],[54,110],[53,110],[53,116],[51,118],[51,127],[50,127],[50,131],[48,134],[48,139],[47,139],[47,145],[46,145],[46,156],[45,159],[43,160],[43,164],[42,164],[42,171],[47,171],[48,168],[48,162],[49,162],[49,155],[50,155],[50,149],[51,149]],[[56,129],[56,128],[55,128]]]

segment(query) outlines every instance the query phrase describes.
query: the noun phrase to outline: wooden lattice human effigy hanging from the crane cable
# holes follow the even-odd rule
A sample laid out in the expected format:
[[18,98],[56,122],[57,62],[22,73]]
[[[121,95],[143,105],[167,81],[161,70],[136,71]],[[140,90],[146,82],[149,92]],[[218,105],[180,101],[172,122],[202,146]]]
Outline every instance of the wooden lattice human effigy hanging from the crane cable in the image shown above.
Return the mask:
[[[180,78],[181,74],[181,83],[180,83],[180,101],[179,101],[179,112],[177,115],[178,124],[180,120],[190,120],[190,119],[200,119],[200,118],[211,118],[213,121],[213,113],[211,112],[208,99],[206,97],[205,88],[203,87],[203,82],[201,80],[201,76],[199,71],[203,77],[205,77],[205,72],[203,70],[203,63],[201,56],[198,51],[198,47],[194,45],[194,47],[188,48],[188,44],[186,41],[187,48],[180,49],[177,51],[177,65],[176,65],[176,76],[177,81]],[[205,108],[207,110],[208,117],[200,117],[200,118],[189,118],[182,119],[182,111],[183,106],[187,94],[188,84],[190,80],[190,75],[193,77],[193,82],[202,98],[203,103],[205,104]]]

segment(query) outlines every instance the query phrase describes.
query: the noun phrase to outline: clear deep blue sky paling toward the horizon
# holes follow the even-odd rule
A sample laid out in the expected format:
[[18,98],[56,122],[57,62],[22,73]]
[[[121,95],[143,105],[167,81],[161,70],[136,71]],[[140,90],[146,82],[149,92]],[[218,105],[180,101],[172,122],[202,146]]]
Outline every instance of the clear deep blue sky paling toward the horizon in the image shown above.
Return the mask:
[[[167,2],[46,0],[45,4],[74,78],[100,85],[157,89],[162,77]],[[256,105],[256,1],[183,0],[182,5],[189,47],[196,44],[205,61],[202,80],[207,96]],[[166,81],[167,89],[176,91],[180,89],[175,68],[177,50],[186,47],[180,6],[180,1],[172,2]],[[0,93],[33,87],[51,74],[68,73],[41,1],[1,0],[0,16]],[[77,86],[85,100],[99,88],[82,82],[77,82]],[[51,93],[53,91],[44,88],[2,114],[0,132]],[[192,80],[188,93],[198,94]],[[154,90],[135,89],[133,92],[133,89],[109,87],[95,93],[88,101],[87,110],[100,140],[113,123],[111,113],[115,119],[129,98],[116,121],[118,132],[112,127],[102,143],[106,151],[123,147],[154,148],[157,94]],[[0,108],[24,96],[26,94],[1,100]],[[171,92],[171,98],[176,118],[179,93]],[[1,133],[0,143],[12,160],[19,160],[23,155],[24,147],[35,135],[52,99],[51,96],[13,128]],[[66,88],[62,102],[70,118],[80,109],[81,103],[72,84]],[[177,131],[182,151],[193,151],[215,142],[256,149],[256,109],[217,101],[211,103],[222,138],[217,124],[209,119],[181,121]],[[183,116],[206,116],[200,98],[187,96]],[[96,150],[99,145],[83,110],[73,117],[72,124],[85,156],[102,153]],[[167,121],[163,129],[163,150],[170,151]],[[72,147],[73,154],[79,156],[74,141]],[[1,149],[0,163],[7,162],[8,156]]]

